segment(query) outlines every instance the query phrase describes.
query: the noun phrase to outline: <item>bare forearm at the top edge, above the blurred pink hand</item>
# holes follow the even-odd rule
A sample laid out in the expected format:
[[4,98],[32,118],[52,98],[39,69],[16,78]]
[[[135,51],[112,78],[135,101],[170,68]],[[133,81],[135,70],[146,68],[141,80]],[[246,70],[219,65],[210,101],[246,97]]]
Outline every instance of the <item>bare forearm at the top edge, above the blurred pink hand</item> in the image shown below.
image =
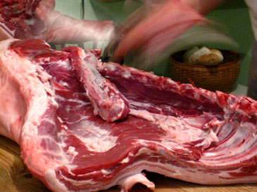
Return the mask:
[[181,0],[182,3],[194,8],[199,13],[205,15],[214,8],[224,3],[226,0]]

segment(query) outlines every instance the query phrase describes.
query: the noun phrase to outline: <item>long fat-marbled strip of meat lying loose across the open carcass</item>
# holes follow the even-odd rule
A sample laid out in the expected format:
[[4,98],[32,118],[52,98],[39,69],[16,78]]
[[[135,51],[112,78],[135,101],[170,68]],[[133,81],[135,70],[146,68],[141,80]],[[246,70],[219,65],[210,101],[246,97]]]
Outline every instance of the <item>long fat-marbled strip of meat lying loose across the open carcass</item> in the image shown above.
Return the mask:
[[94,114],[108,122],[125,118],[130,111],[128,102],[115,85],[97,71],[98,60],[94,52],[77,47],[63,50],[71,53],[71,66],[87,91]]

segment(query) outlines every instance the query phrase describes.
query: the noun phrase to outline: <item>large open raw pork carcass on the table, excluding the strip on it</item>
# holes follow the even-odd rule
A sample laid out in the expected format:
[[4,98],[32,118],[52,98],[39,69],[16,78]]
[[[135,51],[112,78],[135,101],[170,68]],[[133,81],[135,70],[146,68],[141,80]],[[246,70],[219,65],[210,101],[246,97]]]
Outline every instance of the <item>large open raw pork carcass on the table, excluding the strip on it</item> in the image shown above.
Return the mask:
[[52,191],[153,189],[142,170],[199,184],[257,181],[256,101],[99,60],[130,108],[104,121],[73,50],[38,39],[0,45],[0,134],[20,144],[25,165]]

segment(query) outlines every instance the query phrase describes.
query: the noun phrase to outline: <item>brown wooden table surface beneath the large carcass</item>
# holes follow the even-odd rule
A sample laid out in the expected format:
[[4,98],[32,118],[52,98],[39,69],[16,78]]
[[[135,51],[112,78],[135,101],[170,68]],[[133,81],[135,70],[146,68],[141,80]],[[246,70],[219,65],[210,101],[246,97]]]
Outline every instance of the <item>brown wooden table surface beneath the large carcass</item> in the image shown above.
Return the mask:
[[[146,173],[149,180],[156,184],[154,192],[215,192],[215,191],[257,191],[257,184],[237,184],[225,186],[203,186],[177,179],[164,177],[161,174]],[[199,178],[201,179],[201,178]],[[3,192],[50,192],[38,179],[32,177],[20,158],[20,147],[15,142],[0,135],[0,191]],[[104,192],[118,192],[118,187]],[[131,192],[151,192],[142,184],[133,186]]]

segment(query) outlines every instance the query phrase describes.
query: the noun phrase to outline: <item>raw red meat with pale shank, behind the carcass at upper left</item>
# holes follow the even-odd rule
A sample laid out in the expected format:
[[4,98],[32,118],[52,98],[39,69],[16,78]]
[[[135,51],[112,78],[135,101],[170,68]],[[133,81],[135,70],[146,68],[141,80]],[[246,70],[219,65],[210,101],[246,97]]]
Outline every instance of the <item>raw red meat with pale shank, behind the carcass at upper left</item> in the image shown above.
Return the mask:
[[111,21],[76,20],[54,6],[54,0],[1,0],[0,40],[37,38],[63,44],[111,39]]

